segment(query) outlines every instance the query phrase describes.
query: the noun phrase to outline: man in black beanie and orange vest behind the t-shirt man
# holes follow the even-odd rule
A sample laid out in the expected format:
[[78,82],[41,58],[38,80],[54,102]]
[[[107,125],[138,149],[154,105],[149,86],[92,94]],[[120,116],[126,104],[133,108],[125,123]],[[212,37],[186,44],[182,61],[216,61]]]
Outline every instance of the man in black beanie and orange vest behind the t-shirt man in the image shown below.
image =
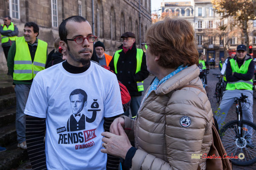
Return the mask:
[[97,41],[94,44],[96,55],[99,59],[99,65],[109,65],[112,56],[105,53],[105,45],[101,41]]

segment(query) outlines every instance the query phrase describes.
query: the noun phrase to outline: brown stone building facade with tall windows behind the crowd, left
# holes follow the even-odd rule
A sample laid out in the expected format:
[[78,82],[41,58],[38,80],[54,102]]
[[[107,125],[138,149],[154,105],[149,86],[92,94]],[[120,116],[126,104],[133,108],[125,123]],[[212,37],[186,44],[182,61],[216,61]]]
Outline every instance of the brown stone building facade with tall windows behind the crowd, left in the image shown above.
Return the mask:
[[[136,35],[137,48],[145,40],[151,25],[151,0],[0,0],[0,24],[9,15],[23,36],[26,22],[35,22],[38,38],[48,43],[48,52],[58,38],[58,26],[67,17],[80,15],[92,26],[97,40],[104,42],[106,53],[113,55],[122,44],[125,31]],[[0,70],[7,71],[3,49],[0,48]]]

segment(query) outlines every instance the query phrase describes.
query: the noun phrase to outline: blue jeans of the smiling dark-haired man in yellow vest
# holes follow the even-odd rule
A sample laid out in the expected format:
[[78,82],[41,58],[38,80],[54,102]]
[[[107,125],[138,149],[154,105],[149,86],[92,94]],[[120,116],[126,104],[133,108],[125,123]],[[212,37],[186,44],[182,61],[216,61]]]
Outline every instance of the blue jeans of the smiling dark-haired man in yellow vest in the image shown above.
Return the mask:
[[26,101],[29,96],[29,90],[31,85],[15,85],[16,93],[16,132],[17,132],[17,141],[22,143],[26,141],[26,114],[24,114]]

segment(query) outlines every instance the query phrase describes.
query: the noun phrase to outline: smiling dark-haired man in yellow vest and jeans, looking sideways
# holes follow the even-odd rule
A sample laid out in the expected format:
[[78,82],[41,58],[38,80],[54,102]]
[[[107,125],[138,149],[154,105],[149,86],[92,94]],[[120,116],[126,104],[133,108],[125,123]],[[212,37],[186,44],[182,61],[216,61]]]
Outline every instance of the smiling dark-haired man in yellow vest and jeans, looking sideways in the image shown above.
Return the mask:
[[24,36],[17,37],[8,53],[7,66],[13,77],[16,93],[17,147],[26,149],[26,115],[24,109],[35,75],[45,69],[47,42],[37,38],[39,27],[36,23],[25,24]]

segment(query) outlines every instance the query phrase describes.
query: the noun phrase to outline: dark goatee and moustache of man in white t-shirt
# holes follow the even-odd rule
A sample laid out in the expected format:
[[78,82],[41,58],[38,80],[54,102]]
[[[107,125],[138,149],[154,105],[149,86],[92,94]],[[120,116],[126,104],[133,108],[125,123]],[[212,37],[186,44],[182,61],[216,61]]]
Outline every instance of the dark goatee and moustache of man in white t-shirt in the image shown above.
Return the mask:
[[76,62],[80,62],[83,66],[88,65],[90,63],[90,59],[92,57],[92,53],[91,54],[83,54],[83,57],[79,57],[79,54],[85,51],[90,51],[92,52],[92,50],[90,48],[84,48],[81,51],[78,51],[78,54],[73,53],[72,51],[70,51],[69,46],[67,45],[67,53],[69,54],[69,56]]

